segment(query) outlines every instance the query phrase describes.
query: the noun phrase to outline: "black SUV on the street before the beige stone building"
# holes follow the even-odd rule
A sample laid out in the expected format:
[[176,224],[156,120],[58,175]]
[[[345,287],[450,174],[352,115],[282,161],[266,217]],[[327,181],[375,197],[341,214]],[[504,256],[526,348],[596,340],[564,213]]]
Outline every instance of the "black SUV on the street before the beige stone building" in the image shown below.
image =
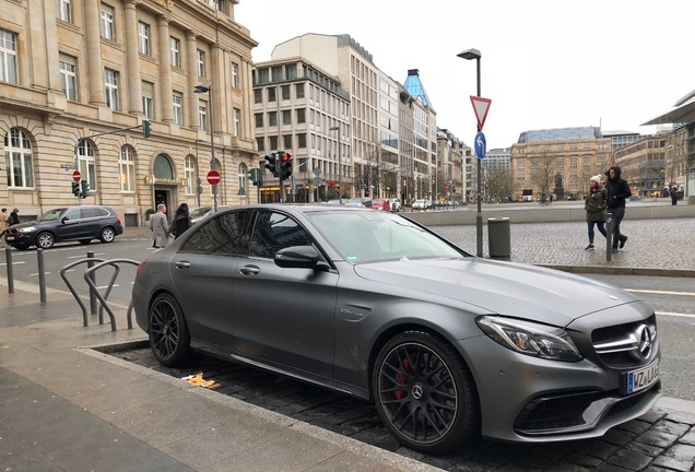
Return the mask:
[[52,209],[36,221],[10,226],[4,240],[16,249],[30,246],[48,249],[55,243],[66,240],[90,244],[99,238],[102,243],[110,243],[122,233],[120,216],[114,210],[83,205]]

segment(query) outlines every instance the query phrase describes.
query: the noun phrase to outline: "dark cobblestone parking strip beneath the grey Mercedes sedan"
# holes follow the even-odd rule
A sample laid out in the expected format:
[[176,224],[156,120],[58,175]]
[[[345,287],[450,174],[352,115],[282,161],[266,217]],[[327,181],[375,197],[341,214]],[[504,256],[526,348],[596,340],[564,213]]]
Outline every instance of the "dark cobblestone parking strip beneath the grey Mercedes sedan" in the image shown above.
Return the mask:
[[695,412],[652,410],[597,439],[516,445],[480,439],[455,452],[425,456],[401,447],[374,406],[261,370],[197,356],[181,368],[160,365],[146,343],[114,356],[181,378],[199,371],[216,391],[295,420],[452,472],[694,471]]

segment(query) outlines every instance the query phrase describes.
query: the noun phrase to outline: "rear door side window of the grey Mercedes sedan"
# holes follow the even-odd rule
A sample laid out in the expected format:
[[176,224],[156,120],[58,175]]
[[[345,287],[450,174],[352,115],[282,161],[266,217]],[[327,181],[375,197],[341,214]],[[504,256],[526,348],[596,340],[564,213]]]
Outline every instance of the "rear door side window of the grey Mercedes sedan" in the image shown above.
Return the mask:
[[246,256],[248,255],[246,229],[250,216],[250,211],[242,210],[212,217],[188,237],[179,251]]

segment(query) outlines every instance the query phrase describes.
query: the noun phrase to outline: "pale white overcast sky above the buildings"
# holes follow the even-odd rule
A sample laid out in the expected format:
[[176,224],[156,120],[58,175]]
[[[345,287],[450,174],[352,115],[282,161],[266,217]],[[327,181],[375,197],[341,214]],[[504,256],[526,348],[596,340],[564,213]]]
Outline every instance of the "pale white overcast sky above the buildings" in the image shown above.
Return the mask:
[[419,69],[437,126],[472,145],[476,48],[492,99],[487,149],[527,130],[640,127],[695,90],[693,0],[239,0],[236,21],[259,43],[254,60],[307,33],[349,34],[401,84]]

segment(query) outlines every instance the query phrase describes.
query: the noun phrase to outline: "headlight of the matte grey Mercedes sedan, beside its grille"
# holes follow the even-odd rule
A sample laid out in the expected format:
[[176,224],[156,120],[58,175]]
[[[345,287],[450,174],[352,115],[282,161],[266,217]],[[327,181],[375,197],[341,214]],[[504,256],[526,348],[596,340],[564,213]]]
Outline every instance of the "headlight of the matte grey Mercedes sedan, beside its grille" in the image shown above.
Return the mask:
[[520,354],[565,362],[582,358],[562,328],[490,316],[481,317],[476,322],[490,339]]

